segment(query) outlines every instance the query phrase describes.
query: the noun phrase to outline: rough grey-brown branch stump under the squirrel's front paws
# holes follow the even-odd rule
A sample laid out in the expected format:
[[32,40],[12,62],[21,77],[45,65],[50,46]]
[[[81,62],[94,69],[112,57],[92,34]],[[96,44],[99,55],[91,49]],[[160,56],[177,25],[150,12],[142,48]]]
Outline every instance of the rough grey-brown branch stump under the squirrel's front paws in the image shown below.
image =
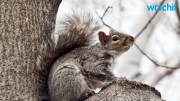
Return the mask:
[[85,101],[163,101],[161,94],[146,84],[121,78]]

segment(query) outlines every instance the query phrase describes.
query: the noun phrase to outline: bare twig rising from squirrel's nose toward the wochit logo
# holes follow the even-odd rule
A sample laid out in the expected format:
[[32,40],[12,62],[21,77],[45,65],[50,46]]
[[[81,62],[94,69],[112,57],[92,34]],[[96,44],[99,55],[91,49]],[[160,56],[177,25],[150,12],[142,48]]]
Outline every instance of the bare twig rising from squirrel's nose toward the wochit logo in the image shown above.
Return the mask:
[[[163,5],[164,2],[165,2],[165,0],[163,0],[160,5]],[[151,23],[151,21],[154,19],[154,17],[157,15],[158,12],[159,11],[156,11],[154,13],[154,15],[151,17],[151,19],[149,19],[149,21],[146,23],[146,25],[143,27],[143,29],[135,36],[135,39],[137,39],[139,37],[139,35],[141,35],[141,33],[147,28],[147,26]]]

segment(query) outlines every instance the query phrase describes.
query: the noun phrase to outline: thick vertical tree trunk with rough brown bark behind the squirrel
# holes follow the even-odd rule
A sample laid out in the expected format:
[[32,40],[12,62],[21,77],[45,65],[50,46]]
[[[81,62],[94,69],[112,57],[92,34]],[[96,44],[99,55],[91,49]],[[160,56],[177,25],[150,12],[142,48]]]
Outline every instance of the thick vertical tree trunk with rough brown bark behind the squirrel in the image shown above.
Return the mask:
[[37,101],[35,62],[61,0],[0,0],[0,101]]

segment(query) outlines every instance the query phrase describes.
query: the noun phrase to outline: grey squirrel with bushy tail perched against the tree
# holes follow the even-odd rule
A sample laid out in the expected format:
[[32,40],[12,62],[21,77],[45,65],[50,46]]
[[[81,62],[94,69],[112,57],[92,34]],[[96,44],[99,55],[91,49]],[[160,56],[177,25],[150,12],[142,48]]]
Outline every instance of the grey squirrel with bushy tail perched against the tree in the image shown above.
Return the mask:
[[[110,30],[109,35],[90,14],[71,14],[40,46],[36,61],[37,87],[42,101],[82,101],[117,78],[113,60],[128,51],[134,38]],[[55,38],[57,36],[57,40]]]

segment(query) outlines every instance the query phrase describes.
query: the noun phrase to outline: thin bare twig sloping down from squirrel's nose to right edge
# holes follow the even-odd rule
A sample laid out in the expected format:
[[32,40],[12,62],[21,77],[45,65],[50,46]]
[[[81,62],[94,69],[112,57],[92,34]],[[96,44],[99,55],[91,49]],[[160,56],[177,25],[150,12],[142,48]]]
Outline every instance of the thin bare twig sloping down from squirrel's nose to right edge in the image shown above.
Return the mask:
[[178,69],[178,68],[180,68],[180,67],[169,67],[169,66],[160,65],[160,64],[158,64],[157,62],[155,62],[153,59],[151,59],[145,52],[143,52],[136,43],[134,43],[134,45],[139,49],[139,51],[140,51],[144,56],[146,56],[149,60],[151,60],[156,66],[165,67],[165,68],[169,68],[169,69]]

